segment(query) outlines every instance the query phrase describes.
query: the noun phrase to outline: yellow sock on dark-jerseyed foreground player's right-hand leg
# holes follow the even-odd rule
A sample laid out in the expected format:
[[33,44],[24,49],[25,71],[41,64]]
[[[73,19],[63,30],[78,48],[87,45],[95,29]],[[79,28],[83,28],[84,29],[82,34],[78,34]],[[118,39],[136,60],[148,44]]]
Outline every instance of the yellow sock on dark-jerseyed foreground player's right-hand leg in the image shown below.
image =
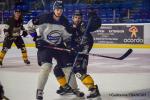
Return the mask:
[[82,79],[81,79],[82,83],[88,88],[94,88],[94,80],[92,79],[92,77],[90,75],[85,75]]

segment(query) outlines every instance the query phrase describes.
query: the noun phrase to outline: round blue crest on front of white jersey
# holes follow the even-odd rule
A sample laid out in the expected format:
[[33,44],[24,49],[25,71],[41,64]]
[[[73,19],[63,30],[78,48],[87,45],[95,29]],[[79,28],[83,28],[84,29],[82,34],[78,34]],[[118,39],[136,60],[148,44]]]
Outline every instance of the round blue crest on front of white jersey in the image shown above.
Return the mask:
[[59,44],[61,42],[61,32],[59,30],[51,31],[47,35],[47,40],[53,44]]

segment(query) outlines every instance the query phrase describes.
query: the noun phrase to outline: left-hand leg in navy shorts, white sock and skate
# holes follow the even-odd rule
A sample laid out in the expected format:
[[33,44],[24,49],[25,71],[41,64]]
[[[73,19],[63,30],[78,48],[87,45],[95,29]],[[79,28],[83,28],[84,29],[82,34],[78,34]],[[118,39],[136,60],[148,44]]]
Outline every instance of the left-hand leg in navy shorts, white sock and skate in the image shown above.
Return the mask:
[[43,90],[52,69],[52,57],[49,53],[47,49],[39,49],[37,52],[38,64],[41,66],[37,83],[37,100],[43,100]]

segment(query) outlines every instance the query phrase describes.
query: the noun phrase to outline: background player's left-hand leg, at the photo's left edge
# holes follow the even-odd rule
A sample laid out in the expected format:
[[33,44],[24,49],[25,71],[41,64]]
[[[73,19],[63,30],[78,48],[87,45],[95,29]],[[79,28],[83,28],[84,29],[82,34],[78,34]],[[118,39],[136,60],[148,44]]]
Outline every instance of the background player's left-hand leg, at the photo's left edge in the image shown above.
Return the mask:
[[3,65],[3,59],[4,59],[4,57],[5,57],[8,49],[11,48],[12,43],[13,43],[13,40],[11,38],[6,37],[4,39],[3,48],[2,48],[2,50],[0,52],[0,67],[2,67],[2,65]]

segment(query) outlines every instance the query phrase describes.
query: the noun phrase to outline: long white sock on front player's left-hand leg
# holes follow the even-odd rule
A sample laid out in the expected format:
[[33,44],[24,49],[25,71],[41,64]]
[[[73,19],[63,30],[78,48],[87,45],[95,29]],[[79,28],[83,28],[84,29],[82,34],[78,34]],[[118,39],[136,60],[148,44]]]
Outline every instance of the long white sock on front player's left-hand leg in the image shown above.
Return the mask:
[[38,89],[40,89],[40,90],[44,89],[45,84],[48,80],[48,76],[51,71],[51,68],[52,68],[52,64],[50,64],[50,63],[42,64],[40,74],[38,77],[38,86],[37,86]]

